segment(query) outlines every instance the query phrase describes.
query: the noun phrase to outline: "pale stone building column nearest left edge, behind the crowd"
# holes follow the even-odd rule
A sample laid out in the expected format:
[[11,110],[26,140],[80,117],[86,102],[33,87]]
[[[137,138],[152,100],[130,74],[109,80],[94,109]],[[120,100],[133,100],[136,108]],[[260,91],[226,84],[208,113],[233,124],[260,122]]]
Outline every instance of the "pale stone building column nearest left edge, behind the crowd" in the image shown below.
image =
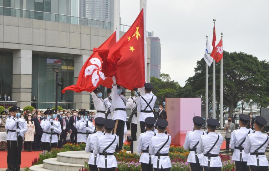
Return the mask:
[[12,100],[23,109],[32,99],[32,51],[13,51]]

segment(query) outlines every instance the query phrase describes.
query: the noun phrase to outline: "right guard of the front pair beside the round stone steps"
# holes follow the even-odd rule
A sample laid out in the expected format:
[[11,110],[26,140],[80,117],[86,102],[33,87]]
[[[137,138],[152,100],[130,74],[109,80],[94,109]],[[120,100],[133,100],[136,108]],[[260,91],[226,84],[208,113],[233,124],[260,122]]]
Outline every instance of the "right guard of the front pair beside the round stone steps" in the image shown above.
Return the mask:
[[114,156],[116,146],[119,142],[119,137],[112,135],[115,122],[111,119],[104,121],[105,134],[97,137],[96,145],[94,147],[94,154],[99,154],[97,167],[99,171],[115,171],[117,160]]

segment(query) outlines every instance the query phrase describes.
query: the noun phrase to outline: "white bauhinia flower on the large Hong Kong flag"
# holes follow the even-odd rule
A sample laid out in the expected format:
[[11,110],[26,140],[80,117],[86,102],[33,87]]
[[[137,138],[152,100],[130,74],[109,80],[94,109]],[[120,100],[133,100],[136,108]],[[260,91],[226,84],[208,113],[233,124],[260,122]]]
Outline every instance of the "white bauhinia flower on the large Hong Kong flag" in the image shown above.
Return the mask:
[[[90,59],[90,63],[92,63],[93,65],[90,65],[85,69],[85,77],[92,75],[92,83],[94,86],[96,86],[99,82],[99,77],[101,77],[103,80],[106,77],[104,76],[104,73],[101,69],[102,63],[98,58]],[[97,73],[99,73],[99,75]]]

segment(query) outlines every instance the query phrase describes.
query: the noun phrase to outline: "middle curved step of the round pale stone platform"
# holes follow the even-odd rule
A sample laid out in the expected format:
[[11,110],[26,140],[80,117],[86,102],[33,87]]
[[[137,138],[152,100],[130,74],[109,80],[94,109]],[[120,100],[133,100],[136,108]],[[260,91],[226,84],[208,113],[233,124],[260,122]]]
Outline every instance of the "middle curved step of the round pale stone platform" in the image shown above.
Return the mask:
[[84,164],[63,163],[57,158],[43,160],[43,168],[56,171],[75,171],[84,168]]

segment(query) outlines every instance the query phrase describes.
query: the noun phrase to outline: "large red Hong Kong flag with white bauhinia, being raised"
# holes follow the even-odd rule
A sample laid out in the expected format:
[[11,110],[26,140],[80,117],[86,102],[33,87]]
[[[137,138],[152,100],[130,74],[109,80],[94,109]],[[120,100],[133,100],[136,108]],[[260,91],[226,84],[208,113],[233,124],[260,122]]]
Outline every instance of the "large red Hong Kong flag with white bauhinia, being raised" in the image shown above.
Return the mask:
[[[116,43],[116,32],[114,32],[99,49],[107,49]],[[62,90],[64,93],[66,90],[72,90],[75,92],[93,91],[99,85],[111,88],[113,84],[111,77],[105,77],[102,72],[102,58],[98,52],[93,54],[84,63],[81,71],[79,72],[79,78],[76,85],[70,85]]]

